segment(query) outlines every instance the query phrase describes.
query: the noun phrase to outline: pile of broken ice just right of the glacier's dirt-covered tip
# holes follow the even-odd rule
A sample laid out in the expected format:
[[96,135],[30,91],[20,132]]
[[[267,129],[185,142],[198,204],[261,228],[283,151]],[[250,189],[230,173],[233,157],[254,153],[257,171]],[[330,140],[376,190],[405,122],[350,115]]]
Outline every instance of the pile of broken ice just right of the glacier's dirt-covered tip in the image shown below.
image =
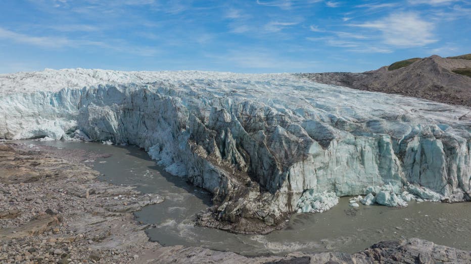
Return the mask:
[[313,189],[304,191],[298,201],[298,213],[322,213],[339,203],[335,192],[314,193]]

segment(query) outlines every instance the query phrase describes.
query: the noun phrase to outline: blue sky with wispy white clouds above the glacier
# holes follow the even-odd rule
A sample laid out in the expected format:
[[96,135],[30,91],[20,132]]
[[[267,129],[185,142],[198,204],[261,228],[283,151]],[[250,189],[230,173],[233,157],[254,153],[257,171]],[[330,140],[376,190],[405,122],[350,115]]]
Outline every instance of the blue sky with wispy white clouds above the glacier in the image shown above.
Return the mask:
[[361,72],[470,47],[471,0],[0,2],[0,73]]

